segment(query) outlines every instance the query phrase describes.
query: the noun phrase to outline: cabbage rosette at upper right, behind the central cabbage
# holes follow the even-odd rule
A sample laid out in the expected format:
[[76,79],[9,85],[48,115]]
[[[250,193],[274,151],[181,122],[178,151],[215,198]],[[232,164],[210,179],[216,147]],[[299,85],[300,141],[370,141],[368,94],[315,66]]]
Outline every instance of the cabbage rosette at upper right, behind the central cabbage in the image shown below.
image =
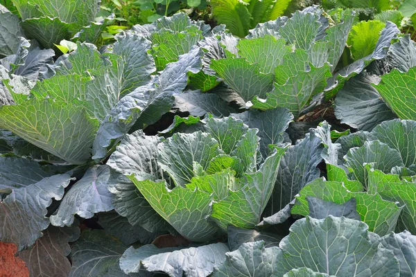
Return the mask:
[[[372,60],[385,57],[385,48],[399,33],[394,24],[386,24],[372,53],[338,70],[353,23],[350,10],[327,19],[317,6],[306,8],[290,18],[259,24],[245,39],[223,42],[220,37],[219,42],[202,45],[208,53],[216,53],[202,71],[212,75],[207,68],[214,70],[246,107],[286,107],[297,117],[333,97],[345,80]],[[214,51],[215,43],[225,51]]]

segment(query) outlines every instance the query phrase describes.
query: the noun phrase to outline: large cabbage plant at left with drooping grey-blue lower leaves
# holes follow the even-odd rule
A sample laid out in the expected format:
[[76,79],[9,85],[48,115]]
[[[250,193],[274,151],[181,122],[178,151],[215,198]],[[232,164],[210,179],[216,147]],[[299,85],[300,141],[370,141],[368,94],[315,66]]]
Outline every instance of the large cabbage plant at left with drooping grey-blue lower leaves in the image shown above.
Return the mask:
[[[17,244],[19,251],[37,245],[33,252],[37,258],[27,264],[32,274],[58,272],[62,265],[59,274],[66,275],[71,270],[67,242],[76,240],[75,217],[91,218],[113,210],[110,188],[126,181],[113,175],[110,167],[96,163],[110,155],[114,144],[138,120],[144,127],[171,109],[174,94],[187,87],[188,72],[200,70],[202,51],[194,46],[177,62],[155,73],[155,62],[147,53],[150,42],[132,33],[117,35],[112,51],[107,53],[98,52],[93,44],[78,42],[76,51],[62,55],[55,64],[50,51],[30,46],[26,40],[21,42],[13,50],[16,54],[1,60],[0,66],[1,91],[10,99],[0,107],[0,151],[12,156],[1,166],[0,204],[8,212],[0,215],[0,240]],[[14,167],[8,168],[10,165]],[[139,230],[143,235],[136,236],[135,241],[155,238],[121,216],[101,217],[109,233],[116,233],[109,221],[124,224],[132,233]],[[162,217],[159,221],[168,225]],[[50,224],[59,228],[49,229]],[[40,239],[42,233],[48,234],[44,240]],[[131,238],[121,239],[132,243]],[[41,255],[54,251],[59,254]],[[46,262],[51,256],[55,263]],[[92,263],[83,270],[89,265]],[[120,270],[114,265],[114,270]]]

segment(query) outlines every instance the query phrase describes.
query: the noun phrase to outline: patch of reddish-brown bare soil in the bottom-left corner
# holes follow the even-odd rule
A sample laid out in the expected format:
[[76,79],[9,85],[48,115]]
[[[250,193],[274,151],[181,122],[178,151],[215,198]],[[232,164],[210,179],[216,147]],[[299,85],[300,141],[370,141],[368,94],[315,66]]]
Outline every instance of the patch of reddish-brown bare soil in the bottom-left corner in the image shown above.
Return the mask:
[[29,277],[26,264],[15,257],[16,244],[0,242],[0,277]]

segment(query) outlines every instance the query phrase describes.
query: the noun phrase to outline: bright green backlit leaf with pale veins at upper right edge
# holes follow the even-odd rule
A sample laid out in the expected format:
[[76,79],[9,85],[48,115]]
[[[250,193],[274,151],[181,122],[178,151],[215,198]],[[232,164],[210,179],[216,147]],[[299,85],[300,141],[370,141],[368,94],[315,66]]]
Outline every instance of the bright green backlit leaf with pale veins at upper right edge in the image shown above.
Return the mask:
[[383,100],[401,119],[416,120],[416,67],[401,73],[393,69],[381,77],[379,84],[373,86],[379,91]]

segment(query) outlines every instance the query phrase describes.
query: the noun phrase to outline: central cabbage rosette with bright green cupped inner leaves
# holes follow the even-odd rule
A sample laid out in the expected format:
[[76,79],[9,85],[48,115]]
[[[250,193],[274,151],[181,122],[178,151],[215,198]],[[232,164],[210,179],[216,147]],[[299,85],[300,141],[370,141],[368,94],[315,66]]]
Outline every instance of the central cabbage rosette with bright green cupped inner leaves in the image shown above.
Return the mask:
[[202,130],[168,139],[138,131],[108,164],[131,179],[178,233],[205,242],[229,224],[250,228],[261,220],[285,149],[274,146],[258,163],[257,132],[233,117],[209,118]]

